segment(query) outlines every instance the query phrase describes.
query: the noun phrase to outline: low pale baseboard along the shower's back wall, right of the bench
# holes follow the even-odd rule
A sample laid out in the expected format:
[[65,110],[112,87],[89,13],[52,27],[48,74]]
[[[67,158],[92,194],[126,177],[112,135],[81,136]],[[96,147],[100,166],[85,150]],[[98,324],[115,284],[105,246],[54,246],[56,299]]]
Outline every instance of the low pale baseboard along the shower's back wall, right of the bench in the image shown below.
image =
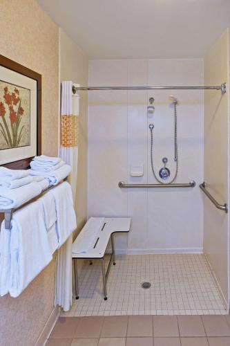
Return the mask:
[[134,248],[128,249],[128,255],[148,255],[160,253],[202,253],[202,248]]

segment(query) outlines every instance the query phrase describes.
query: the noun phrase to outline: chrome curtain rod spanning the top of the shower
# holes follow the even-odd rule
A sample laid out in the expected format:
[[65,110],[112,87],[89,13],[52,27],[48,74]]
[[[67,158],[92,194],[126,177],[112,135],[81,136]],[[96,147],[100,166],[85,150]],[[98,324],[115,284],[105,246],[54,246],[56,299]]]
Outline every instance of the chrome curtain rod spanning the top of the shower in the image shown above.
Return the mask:
[[226,83],[218,86],[74,86],[73,93],[91,90],[220,90],[226,93]]

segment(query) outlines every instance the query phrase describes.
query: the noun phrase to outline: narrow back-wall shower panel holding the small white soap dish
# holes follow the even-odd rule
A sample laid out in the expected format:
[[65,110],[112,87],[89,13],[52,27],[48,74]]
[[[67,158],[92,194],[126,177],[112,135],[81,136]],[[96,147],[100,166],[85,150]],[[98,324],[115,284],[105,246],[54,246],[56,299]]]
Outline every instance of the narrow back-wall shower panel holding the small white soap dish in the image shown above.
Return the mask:
[[[128,86],[146,85],[147,60],[128,60]],[[148,181],[147,92],[128,91],[128,183]],[[144,165],[144,176],[133,177],[131,165]],[[132,232],[128,235],[128,252],[146,248],[148,200],[146,189],[128,189],[128,216],[132,218]]]

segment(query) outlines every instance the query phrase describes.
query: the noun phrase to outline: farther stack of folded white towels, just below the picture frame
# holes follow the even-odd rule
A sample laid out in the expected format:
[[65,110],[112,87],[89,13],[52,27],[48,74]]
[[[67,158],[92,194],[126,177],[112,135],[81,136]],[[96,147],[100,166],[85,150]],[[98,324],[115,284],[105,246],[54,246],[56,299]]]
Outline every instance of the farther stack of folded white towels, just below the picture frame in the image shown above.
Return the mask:
[[46,155],[35,156],[30,162],[30,167],[31,176],[44,176],[49,185],[57,185],[71,172],[70,165],[66,165],[61,158]]

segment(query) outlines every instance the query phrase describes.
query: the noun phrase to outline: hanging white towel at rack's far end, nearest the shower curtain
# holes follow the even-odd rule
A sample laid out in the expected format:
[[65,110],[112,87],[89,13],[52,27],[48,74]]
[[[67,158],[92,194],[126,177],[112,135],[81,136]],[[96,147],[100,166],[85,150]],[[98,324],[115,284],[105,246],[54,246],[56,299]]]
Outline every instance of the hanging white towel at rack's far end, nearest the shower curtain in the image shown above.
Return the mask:
[[76,215],[73,206],[73,194],[70,184],[67,183],[67,181],[58,185],[57,188],[50,190],[50,193],[55,197],[57,236],[59,246],[61,246],[77,228]]

